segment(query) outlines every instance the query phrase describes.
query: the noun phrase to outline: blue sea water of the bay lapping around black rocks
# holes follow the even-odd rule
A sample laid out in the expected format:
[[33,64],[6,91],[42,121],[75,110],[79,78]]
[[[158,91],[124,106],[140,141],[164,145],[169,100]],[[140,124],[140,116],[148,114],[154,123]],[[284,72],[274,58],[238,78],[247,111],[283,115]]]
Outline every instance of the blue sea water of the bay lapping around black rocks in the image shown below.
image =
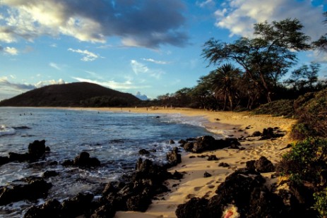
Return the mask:
[[[47,178],[53,185],[47,199],[64,200],[85,191],[101,193],[105,183],[130,174],[140,157],[164,164],[166,153],[178,146],[170,144],[170,140],[213,135],[202,126],[205,121],[200,116],[190,118],[181,114],[0,107],[0,156],[28,152],[28,145],[34,140],[46,140],[45,145],[51,150],[39,162],[0,166],[0,186],[52,170],[59,176]],[[141,149],[151,151],[150,155],[139,155]],[[61,166],[64,160],[73,160],[81,152],[97,157],[101,166]],[[0,216],[21,217],[28,207],[42,202],[24,200],[0,206]]]

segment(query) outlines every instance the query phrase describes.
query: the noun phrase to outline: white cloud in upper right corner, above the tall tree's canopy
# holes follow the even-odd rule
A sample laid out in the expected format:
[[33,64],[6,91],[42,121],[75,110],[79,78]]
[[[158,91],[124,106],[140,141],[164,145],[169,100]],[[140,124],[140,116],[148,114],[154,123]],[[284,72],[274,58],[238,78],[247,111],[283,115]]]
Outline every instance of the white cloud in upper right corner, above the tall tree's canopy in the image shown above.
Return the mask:
[[251,37],[254,23],[297,18],[304,25],[302,31],[316,40],[326,32],[322,14],[323,7],[312,6],[310,0],[231,0],[215,12],[215,25],[230,30],[231,36]]

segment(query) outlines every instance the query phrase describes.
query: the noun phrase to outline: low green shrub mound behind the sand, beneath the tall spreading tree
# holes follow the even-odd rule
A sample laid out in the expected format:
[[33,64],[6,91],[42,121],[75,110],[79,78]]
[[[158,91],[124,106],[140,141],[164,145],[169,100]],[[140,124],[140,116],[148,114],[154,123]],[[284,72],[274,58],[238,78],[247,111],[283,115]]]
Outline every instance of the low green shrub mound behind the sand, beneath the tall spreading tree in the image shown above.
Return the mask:
[[282,99],[262,104],[252,111],[253,114],[271,114],[273,116],[292,117],[295,115],[293,100]]

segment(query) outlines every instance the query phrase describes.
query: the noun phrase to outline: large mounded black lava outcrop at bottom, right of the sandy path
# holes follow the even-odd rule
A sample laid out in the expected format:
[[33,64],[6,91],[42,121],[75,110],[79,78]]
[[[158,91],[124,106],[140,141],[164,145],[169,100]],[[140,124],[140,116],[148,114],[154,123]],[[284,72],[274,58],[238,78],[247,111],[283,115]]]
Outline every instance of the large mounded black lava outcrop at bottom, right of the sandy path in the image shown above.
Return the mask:
[[192,198],[179,205],[176,215],[186,217],[222,217],[230,205],[240,217],[283,217],[283,200],[264,186],[265,179],[256,171],[239,169],[218,186],[213,198]]

